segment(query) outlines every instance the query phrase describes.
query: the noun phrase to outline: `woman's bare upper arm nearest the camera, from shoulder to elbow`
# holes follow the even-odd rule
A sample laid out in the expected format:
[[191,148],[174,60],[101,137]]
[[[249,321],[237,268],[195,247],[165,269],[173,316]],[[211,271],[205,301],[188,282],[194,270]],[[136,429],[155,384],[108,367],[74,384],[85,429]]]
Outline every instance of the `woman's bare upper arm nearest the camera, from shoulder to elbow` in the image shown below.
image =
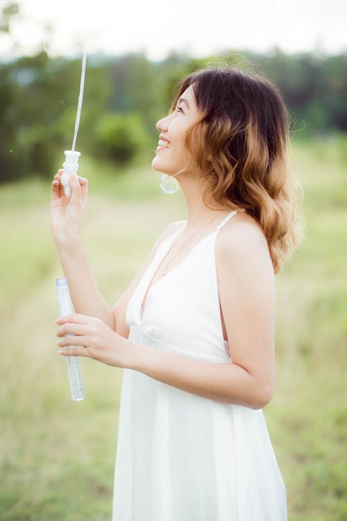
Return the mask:
[[276,288],[269,247],[261,226],[236,214],[217,234],[219,301],[232,363],[255,382],[252,408],[271,399],[275,374]]

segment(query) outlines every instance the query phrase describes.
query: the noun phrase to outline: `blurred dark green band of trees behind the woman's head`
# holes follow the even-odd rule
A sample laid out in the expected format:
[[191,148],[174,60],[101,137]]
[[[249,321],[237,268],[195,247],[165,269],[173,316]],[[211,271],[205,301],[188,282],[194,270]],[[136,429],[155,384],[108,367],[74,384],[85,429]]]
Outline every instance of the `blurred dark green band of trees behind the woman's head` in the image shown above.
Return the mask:
[[[347,130],[347,54],[226,51],[197,59],[172,52],[158,63],[141,53],[96,55],[87,59],[76,148],[124,162],[133,157],[131,148],[153,149],[155,124],[167,114],[178,81],[207,63],[234,64],[240,58],[279,86],[301,138]],[[43,51],[0,63],[0,183],[33,174],[51,177],[60,166],[74,135],[80,74],[80,58],[53,59]]]

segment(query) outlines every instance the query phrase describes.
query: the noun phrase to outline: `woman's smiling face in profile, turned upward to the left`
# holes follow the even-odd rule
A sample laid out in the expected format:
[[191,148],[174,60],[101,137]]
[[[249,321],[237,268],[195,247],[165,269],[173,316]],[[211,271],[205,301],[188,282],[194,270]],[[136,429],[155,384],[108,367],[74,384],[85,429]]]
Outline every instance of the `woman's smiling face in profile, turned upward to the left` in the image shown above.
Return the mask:
[[160,131],[158,147],[152,167],[163,174],[176,174],[192,162],[192,154],[185,147],[187,130],[198,118],[198,108],[192,85],[178,99],[173,113],[156,124]]

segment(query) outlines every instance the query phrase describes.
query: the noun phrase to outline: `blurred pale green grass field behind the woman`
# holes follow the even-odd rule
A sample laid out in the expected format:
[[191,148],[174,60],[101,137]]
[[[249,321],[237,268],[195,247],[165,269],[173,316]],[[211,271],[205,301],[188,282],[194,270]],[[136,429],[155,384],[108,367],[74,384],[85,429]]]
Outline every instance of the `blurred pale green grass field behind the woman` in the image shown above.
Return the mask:
[[[347,138],[294,153],[307,229],[276,276],[276,391],[264,415],[289,521],[346,521]],[[80,164],[85,245],[112,305],[162,228],[186,217],[185,201],[160,191],[150,161],[123,172]],[[56,354],[49,189],[35,179],[0,188],[0,519],[110,521],[122,371],[82,359],[85,400],[71,401]]]

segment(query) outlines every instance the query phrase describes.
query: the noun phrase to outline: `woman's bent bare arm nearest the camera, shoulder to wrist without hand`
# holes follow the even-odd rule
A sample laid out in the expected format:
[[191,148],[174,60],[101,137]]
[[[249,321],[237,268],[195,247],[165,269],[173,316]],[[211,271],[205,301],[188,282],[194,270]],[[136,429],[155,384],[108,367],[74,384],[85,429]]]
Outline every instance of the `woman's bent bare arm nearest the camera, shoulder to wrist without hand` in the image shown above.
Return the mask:
[[275,292],[269,250],[260,231],[244,222],[219,235],[219,295],[232,363],[196,361],[130,342],[130,368],[199,396],[262,408],[274,385]]

